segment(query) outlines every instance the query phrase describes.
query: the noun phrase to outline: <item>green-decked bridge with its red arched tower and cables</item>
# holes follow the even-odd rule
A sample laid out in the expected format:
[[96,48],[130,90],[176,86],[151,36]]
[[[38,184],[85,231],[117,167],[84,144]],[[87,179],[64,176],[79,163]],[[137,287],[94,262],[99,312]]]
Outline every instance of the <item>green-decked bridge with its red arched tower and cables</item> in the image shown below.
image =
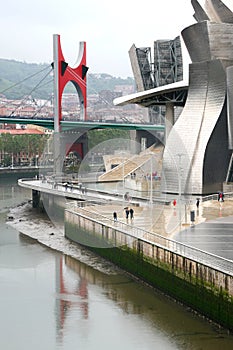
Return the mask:
[[[77,62],[76,68],[71,68],[68,63],[65,62],[64,55],[62,53],[60,35],[54,35],[54,62],[52,63],[53,71],[53,82],[54,82],[54,98],[53,100],[53,112],[43,116],[42,112],[44,106],[38,106],[38,111],[35,115],[22,114],[22,104],[11,111],[7,116],[6,112],[2,112],[0,115],[0,123],[6,124],[21,124],[21,125],[38,125],[55,132],[62,132],[68,130],[78,129],[80,131],[87,131],[90,129],[124,129],[124,130],[136,130],[136,131],[147,131],[147,132],[164,132],[164,125],[154,125],[150,123],[134,123],[129,120],[122,118],[122,122],[99,122],[88,120],[87,117],[87,89],[86,89],[86,73],[88,67],[86,67],[86,43],[81,42],[79,47],[79,61]],[[44,69],[43,69],[44,70]],[[42,70],[42,71],[43,71]],[[48,76],[46,73],[45,77],[37,84],[36,87],[44,82],[44,79]],[[27,79],[30,79],[27,78]],[[67,83],[71,82],[77,92],[79,102],[80,102],[80,115],[79,120],[74,120],[73,117],[69,119],[62,114],[62,95],[64,88]],[[18,84],[16,84],[18,85]],[[32,90],[34,91],[35,88]],[[30,94],[28,95],[30,96]],[[168,99],[169,100],[169,99]],[[34,100],[33,100],[34,102]],[[20,110],[20,112],[19,112]]]

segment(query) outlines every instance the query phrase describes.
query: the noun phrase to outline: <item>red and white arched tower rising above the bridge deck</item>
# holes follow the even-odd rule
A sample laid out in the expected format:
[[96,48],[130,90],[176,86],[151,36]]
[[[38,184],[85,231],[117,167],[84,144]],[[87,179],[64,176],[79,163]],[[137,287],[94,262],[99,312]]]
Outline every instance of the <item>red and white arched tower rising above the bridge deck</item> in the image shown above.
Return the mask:
[[79,95],[81,119],[86,120],[87,89],[86,89],[86,42],[79,43],[79,55],[76,68],[71,68],[62,53],[60,35],[53,36],[53,69],[54,69],[54,129],[59,131],[62,119],[62,93],[68,82],[72,82]]

